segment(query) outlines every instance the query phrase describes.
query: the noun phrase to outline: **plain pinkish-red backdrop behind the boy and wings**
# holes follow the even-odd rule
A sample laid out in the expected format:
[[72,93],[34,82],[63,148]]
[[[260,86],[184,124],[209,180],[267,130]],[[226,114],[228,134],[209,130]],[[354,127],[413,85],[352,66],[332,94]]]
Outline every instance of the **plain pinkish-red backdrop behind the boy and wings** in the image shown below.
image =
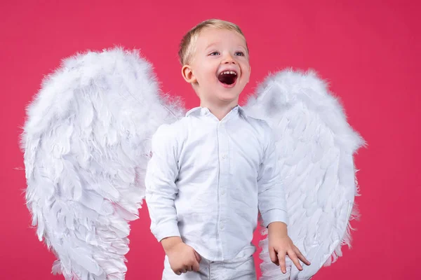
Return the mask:
[[[198,106],[180,76],[177,51],[185,31],[208,18],[236,22],[248,39],[253,71],[241,102],[269,71],[316,69],[368,141],[355,160],[362,216],[353,224],[353,247],[314,279],[419,279],[419,2],[5,2],[0,3],[1,279],[62,279],[50,274],[53,253],[30,228],[18,148],[25,106],[43,76],[75,52],[140,48],[154,63],[163,90],[185,97],[187,108]],[[132,228],[126,279],[160,279],[163,251],[149,232],[147,209]]]

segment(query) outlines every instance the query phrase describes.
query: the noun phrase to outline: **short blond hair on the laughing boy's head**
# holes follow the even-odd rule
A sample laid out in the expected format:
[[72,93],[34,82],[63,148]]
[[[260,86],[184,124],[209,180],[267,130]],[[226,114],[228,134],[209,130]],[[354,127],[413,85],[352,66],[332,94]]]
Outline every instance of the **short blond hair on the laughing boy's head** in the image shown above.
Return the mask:
[[[243,31],[241,31],[238,25],[235,25],[232,22],[227,22],[225,20],[205,20],[199,25],[196,25],[190,31],[182,37],[180,43],[180,50],[178,51],[178,57],[180,59],[180,63],[182,65],[187,64],[189,60],[192,58],[192,54],[194,52],[194,47],[196,45],[197,38],[199,37],[200,32],[208,27],[216,28],[216,29],[226,29],[230,31],[237,32],[241,36],[243,36],[244,40],[246,40],[246,36],[244,36]],[[248,52],[248,46],[246,42],[246,48]]]

